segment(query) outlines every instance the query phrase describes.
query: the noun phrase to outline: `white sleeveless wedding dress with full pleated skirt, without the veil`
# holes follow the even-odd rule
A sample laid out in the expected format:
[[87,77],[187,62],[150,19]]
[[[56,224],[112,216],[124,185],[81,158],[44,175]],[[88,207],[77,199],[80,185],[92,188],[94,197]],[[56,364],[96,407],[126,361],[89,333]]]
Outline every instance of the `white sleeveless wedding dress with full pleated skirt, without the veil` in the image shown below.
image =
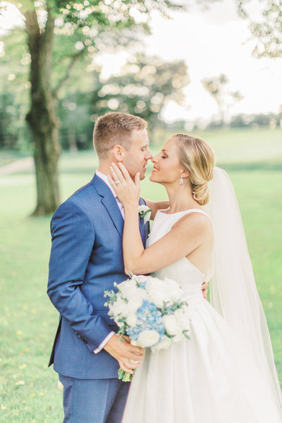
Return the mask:
[[[158,212],[147,244],[190,212],[204,213]],[[123,423],[281,423],[280,404],[243,339],[203,298],[202,282],[211,275],[183,257],[154,276],[176,280],[185,292],[192,311],[190,341],[155,353],[146,350],[133,377]]]

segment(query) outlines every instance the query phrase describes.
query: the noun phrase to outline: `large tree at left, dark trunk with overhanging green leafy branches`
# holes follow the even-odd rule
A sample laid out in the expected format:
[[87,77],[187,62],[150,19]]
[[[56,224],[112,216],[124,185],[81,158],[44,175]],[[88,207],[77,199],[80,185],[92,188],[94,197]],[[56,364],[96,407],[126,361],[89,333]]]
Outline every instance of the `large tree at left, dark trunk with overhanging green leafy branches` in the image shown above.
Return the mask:
[[[149,32],[152,10],[182,6],[171,0],[10,1],[25,18],[30,60],[30,109],[26,120],[34,140],[37,180],[35,214],[54,212],[60,203],[57,164],[59,94],[75,63],[104,49],[127,46]],[[3,55],[2,55],[3,56]]]

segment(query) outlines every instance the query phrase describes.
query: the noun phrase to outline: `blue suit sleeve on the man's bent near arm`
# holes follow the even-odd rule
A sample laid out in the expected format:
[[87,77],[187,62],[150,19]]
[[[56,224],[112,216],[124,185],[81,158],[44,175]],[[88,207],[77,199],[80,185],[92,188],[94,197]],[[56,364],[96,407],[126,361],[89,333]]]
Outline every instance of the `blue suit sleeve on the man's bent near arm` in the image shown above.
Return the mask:
[[51,255],[47,293],[73,331],[96,350],[111,329],[80,290],[92,254],[95,233],[78,204],[61,204],[51,220]]

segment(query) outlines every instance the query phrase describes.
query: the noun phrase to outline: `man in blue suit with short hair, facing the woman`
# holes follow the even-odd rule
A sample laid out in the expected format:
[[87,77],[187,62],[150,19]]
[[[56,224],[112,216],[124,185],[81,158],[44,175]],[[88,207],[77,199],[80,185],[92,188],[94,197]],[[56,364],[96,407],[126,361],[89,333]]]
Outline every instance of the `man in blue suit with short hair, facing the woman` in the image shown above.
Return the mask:
[[[116,335],[104,307],[104,290],[128,276],[123,268],[123,205],[107,175],[122,161],[134,177],[145,178],[152,159],[147,123],[137,116],[109,113],[94,126],[99,170],[51,220],[48,295],[60,312],[49,365],[63,384],[64,423],[120,423],[129,385],[118,368],[138,367],[144,350]],[[145,204],[140,198],[140,204]],[[145,245],[148,223],[140,219]]]

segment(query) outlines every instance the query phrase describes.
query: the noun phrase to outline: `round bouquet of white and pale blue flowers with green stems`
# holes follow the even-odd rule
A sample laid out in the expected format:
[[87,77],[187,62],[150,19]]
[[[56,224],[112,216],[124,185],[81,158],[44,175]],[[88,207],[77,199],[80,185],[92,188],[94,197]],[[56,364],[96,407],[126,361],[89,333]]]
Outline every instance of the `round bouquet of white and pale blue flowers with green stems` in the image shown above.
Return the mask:
[[[105,306],[119,327],[118,333],[128,335],[133,345],[155,352],[189,339],[189,307],[176,281],[130,274],[130,279],[114,286],[117,292],[104,292],[108,297]],[[123,369],[118,371],[118,379],[123,381],[132,376]]]

